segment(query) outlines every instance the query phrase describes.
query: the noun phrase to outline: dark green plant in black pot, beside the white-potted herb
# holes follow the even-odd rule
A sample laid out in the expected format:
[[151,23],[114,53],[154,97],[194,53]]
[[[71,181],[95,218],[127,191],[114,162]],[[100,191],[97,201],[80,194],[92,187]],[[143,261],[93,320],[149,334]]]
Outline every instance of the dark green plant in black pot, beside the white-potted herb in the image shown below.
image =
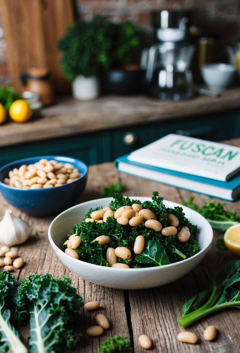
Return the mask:
[[111,66],[103,75],[105,90],[115,94],[137,94],[141,91],[144,71],[139,65],[144,32],[131,21],[112,24]]

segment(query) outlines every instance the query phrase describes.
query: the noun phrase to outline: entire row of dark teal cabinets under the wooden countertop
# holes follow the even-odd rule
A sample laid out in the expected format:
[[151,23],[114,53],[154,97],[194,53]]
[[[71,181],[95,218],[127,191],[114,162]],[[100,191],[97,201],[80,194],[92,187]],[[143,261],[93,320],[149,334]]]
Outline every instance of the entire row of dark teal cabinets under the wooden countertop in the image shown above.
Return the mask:
[[87,165],[109,162],[169,133],[212,141],[240,137],[240,111],[232,110],[209,116],[162,120],[2,146],[0,147],[0,166],[20,158],[46,154],[76,157]]

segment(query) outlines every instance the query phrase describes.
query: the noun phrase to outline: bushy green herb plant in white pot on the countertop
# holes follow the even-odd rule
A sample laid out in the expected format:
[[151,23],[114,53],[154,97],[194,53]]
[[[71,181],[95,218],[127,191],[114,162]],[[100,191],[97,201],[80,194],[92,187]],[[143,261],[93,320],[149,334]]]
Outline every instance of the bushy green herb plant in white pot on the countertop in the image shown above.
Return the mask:
[[110,65],[112,24],[102,16],[75,21],[58,41],[62,71],[72,82],[72,94],[80,100],[95,99],[100,93],[99,75]]

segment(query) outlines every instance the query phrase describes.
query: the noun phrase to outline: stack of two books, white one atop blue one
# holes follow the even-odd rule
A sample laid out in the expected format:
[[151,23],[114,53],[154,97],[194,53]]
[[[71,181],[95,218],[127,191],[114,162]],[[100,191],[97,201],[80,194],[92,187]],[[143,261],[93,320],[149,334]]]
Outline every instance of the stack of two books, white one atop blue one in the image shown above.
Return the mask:
[[115,160],[140,178],[233,201],[240,195],[240,148],[169,134]]

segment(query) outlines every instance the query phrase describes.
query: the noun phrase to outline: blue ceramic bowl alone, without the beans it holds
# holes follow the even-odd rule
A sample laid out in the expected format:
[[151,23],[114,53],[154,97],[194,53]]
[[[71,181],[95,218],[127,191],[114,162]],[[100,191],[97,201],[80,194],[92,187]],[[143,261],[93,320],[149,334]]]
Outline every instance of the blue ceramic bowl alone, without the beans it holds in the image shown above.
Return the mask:
[[[8,172],[22,164],[33,164],[40,159],[71,163],[79,170],[82,177],[69,184],[46,189],[18,189],[3,183]],[[2,197],[15,208],[34,216],[47,216],[59,213],[71,205],[82,194],[87,182],[88,167],[85,163],[66,156],[36,156],[20,159],[0,168],[0,192]]]

